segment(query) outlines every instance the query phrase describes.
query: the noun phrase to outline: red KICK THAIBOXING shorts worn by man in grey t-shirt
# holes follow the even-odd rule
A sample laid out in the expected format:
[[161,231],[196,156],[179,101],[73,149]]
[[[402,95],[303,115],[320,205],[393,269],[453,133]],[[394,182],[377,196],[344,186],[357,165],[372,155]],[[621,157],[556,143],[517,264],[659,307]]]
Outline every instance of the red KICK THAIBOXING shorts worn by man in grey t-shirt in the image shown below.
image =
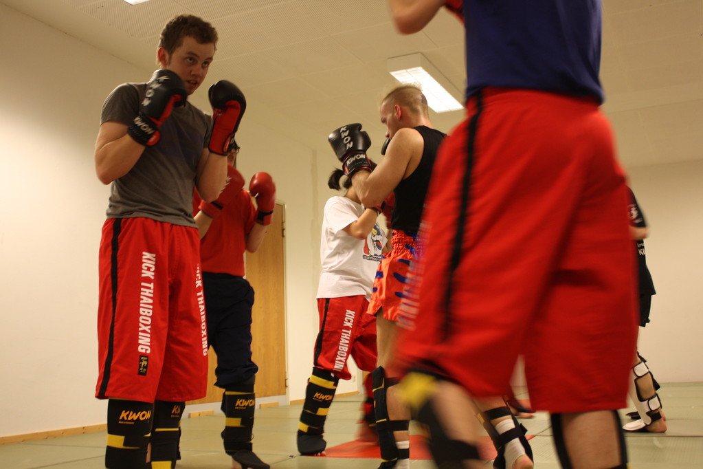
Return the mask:
[[108,219],[100,246],[96,397],[200,399],[207,325],[198,230]]

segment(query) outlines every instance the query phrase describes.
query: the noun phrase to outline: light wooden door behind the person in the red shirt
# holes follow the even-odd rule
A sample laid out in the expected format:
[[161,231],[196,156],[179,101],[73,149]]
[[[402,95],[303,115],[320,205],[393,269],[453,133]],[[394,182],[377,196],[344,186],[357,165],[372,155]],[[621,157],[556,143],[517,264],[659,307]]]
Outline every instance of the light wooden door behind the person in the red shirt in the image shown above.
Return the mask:
[[[276,204],[261,248],[246,253],[247,280],[254,288],[252,359],[259,366],[257,397],[280,396],[285,383],[285,213]],[[214,385],[217,355],[209,350],[207,395],[188,404],[219,402],[222,389]]]

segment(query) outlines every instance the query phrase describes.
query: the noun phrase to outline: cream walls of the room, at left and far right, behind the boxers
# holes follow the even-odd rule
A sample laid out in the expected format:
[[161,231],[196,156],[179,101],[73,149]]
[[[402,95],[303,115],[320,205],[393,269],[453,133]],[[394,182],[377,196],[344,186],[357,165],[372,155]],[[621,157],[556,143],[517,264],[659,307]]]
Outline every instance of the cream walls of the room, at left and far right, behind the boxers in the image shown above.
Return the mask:
[[[97,255],[108,188],[93,171],[100,108],[139,70],[0,5],[6,68],[0,86],[0,437],[95,425]],[[217,62],[217,61],[216,61]],[[192,96],[206,108],[208,82]],[[246,90],[245,90],[246,91]],[[317,331],[314,297],[326,186],[335,165],[295,139],[295,122],[250,102],[238,134],[248,178],[273,175],[285,203],[290,399],[302,399]],[[703,155],[697,162],[630,169],[652,236],[647,259],[659,294],[640,340],[659,380],[703,381],[699,233]],[[701,231],[699,231],[701,230]],[[342,383],[340,392],[358,383]]]

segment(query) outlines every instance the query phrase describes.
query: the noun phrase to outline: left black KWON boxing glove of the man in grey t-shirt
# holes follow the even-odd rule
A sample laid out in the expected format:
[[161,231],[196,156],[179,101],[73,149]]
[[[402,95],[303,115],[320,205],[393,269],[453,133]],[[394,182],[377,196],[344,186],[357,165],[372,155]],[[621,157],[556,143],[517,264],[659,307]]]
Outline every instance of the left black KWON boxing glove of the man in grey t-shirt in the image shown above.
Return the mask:
[[188,91],[181,77],[171,70],[156,70],[146,85],[146,96],[127,134],[145,146],[156,145],[161,138],[159,128],[171,115],[172,109],[186,104]]

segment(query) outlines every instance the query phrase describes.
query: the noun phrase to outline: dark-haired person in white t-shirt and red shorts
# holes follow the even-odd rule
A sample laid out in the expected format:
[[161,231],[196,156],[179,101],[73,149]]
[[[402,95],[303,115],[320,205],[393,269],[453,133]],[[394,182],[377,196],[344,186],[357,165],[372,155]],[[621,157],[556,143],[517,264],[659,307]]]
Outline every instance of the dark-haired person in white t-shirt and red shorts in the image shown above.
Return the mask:
[[[305,404],[298,424],[300,454],[324,454],[325,418],[340,379],[352,376],[347,359],[354,358],[363,371],[376,367],[375,318],[365,314],[373,278],[386,236],[376,223],[382,207],[365,208],[341,169],[330,174],[328,186],[346,192],[325,204],[320,243],[322,271],[317,290],[320,332],[314,346],[313,370],[308,380]],[[366,402],[363,423],[375,425],[370,374],[364,380]]]

